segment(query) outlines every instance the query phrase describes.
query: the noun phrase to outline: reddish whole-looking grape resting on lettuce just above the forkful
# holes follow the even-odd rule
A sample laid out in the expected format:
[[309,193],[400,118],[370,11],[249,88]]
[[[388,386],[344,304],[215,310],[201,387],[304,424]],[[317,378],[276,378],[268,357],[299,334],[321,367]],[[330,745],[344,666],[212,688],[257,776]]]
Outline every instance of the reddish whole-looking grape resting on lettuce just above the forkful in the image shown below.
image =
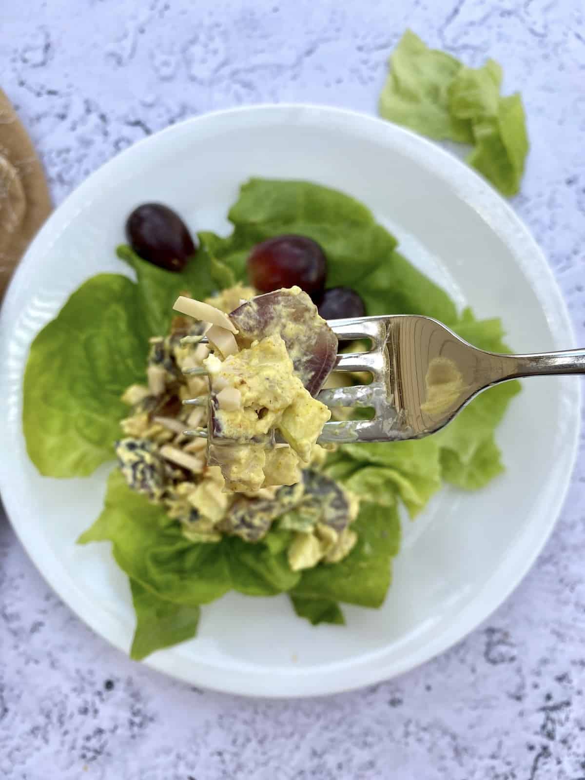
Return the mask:
[[254,246],[248,257],[248,276],[261,293],[295,285],[319,295],[325,285],[327,261],[321,246],[307,236],[276,236]]

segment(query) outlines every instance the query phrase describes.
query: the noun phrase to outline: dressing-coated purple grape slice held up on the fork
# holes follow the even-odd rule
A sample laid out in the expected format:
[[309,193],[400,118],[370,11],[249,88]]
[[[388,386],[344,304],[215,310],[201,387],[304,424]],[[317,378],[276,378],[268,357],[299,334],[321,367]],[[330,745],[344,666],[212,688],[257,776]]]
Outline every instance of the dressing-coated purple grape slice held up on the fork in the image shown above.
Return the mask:
[[229,317],[238,328],[241,349],[256,339],[282,336],[296,375],[317,395],[335,364],[338,342],[307,293],[276,290],[246,301]]

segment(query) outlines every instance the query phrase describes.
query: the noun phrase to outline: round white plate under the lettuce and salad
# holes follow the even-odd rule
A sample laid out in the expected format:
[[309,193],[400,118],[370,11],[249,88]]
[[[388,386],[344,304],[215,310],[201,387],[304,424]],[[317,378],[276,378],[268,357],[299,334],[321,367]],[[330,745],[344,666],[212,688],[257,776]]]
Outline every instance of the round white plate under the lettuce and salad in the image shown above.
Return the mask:
[[[503,317],[518,350],[572,346],[551,271],[510,207],[465,165],[387,122],[310,106],[221,112],[166,129],[90,176],[41,230],[2,310],[2,495],[24,546],[60,597],[126,651],[133,612],[108,544],[75,539],[97,516],[108,468],[84,480],[38,476],[21,431],[21,382],[35,333],[97,271],[127,272],[114,247],[144,200],[193,229],[222,229],[249,176],[309,179],[370,206],[406,254],[477,314]],[[72,334],[75,338],[75,334]],[[480,493],[445,488],[404,544],[384,608],[344,607],[346,628],[313,628],[286,597],[230,594],[200,633],[147,663],[190,683],[256,696],[332,693],[386,679],[460,640],[519,582],[555,523],[576,452],[579,383],[525,383],[498,431],[508,468]]]

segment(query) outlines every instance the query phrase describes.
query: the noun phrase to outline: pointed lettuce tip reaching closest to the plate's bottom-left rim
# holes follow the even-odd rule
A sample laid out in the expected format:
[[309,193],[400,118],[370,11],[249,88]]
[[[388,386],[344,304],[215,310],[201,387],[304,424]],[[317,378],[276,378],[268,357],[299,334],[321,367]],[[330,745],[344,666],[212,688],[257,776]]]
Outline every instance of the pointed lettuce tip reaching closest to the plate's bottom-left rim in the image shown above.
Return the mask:
[[172,604],[130,580],[137,625],[130,658],[141,661],[154,651],[192,639],[197,633],[200,608]]

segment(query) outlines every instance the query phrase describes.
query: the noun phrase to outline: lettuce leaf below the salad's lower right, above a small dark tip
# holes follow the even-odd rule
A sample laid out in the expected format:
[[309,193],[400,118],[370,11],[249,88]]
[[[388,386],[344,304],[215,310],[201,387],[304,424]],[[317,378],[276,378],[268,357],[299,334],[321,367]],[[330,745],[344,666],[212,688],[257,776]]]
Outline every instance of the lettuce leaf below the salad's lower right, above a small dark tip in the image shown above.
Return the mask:
[[293,596],[362,607],[383,604],[392,579],[392,557],[400,546],[398,510],[363,502],[352,527],[358,541],[347,558],[303,571]]

